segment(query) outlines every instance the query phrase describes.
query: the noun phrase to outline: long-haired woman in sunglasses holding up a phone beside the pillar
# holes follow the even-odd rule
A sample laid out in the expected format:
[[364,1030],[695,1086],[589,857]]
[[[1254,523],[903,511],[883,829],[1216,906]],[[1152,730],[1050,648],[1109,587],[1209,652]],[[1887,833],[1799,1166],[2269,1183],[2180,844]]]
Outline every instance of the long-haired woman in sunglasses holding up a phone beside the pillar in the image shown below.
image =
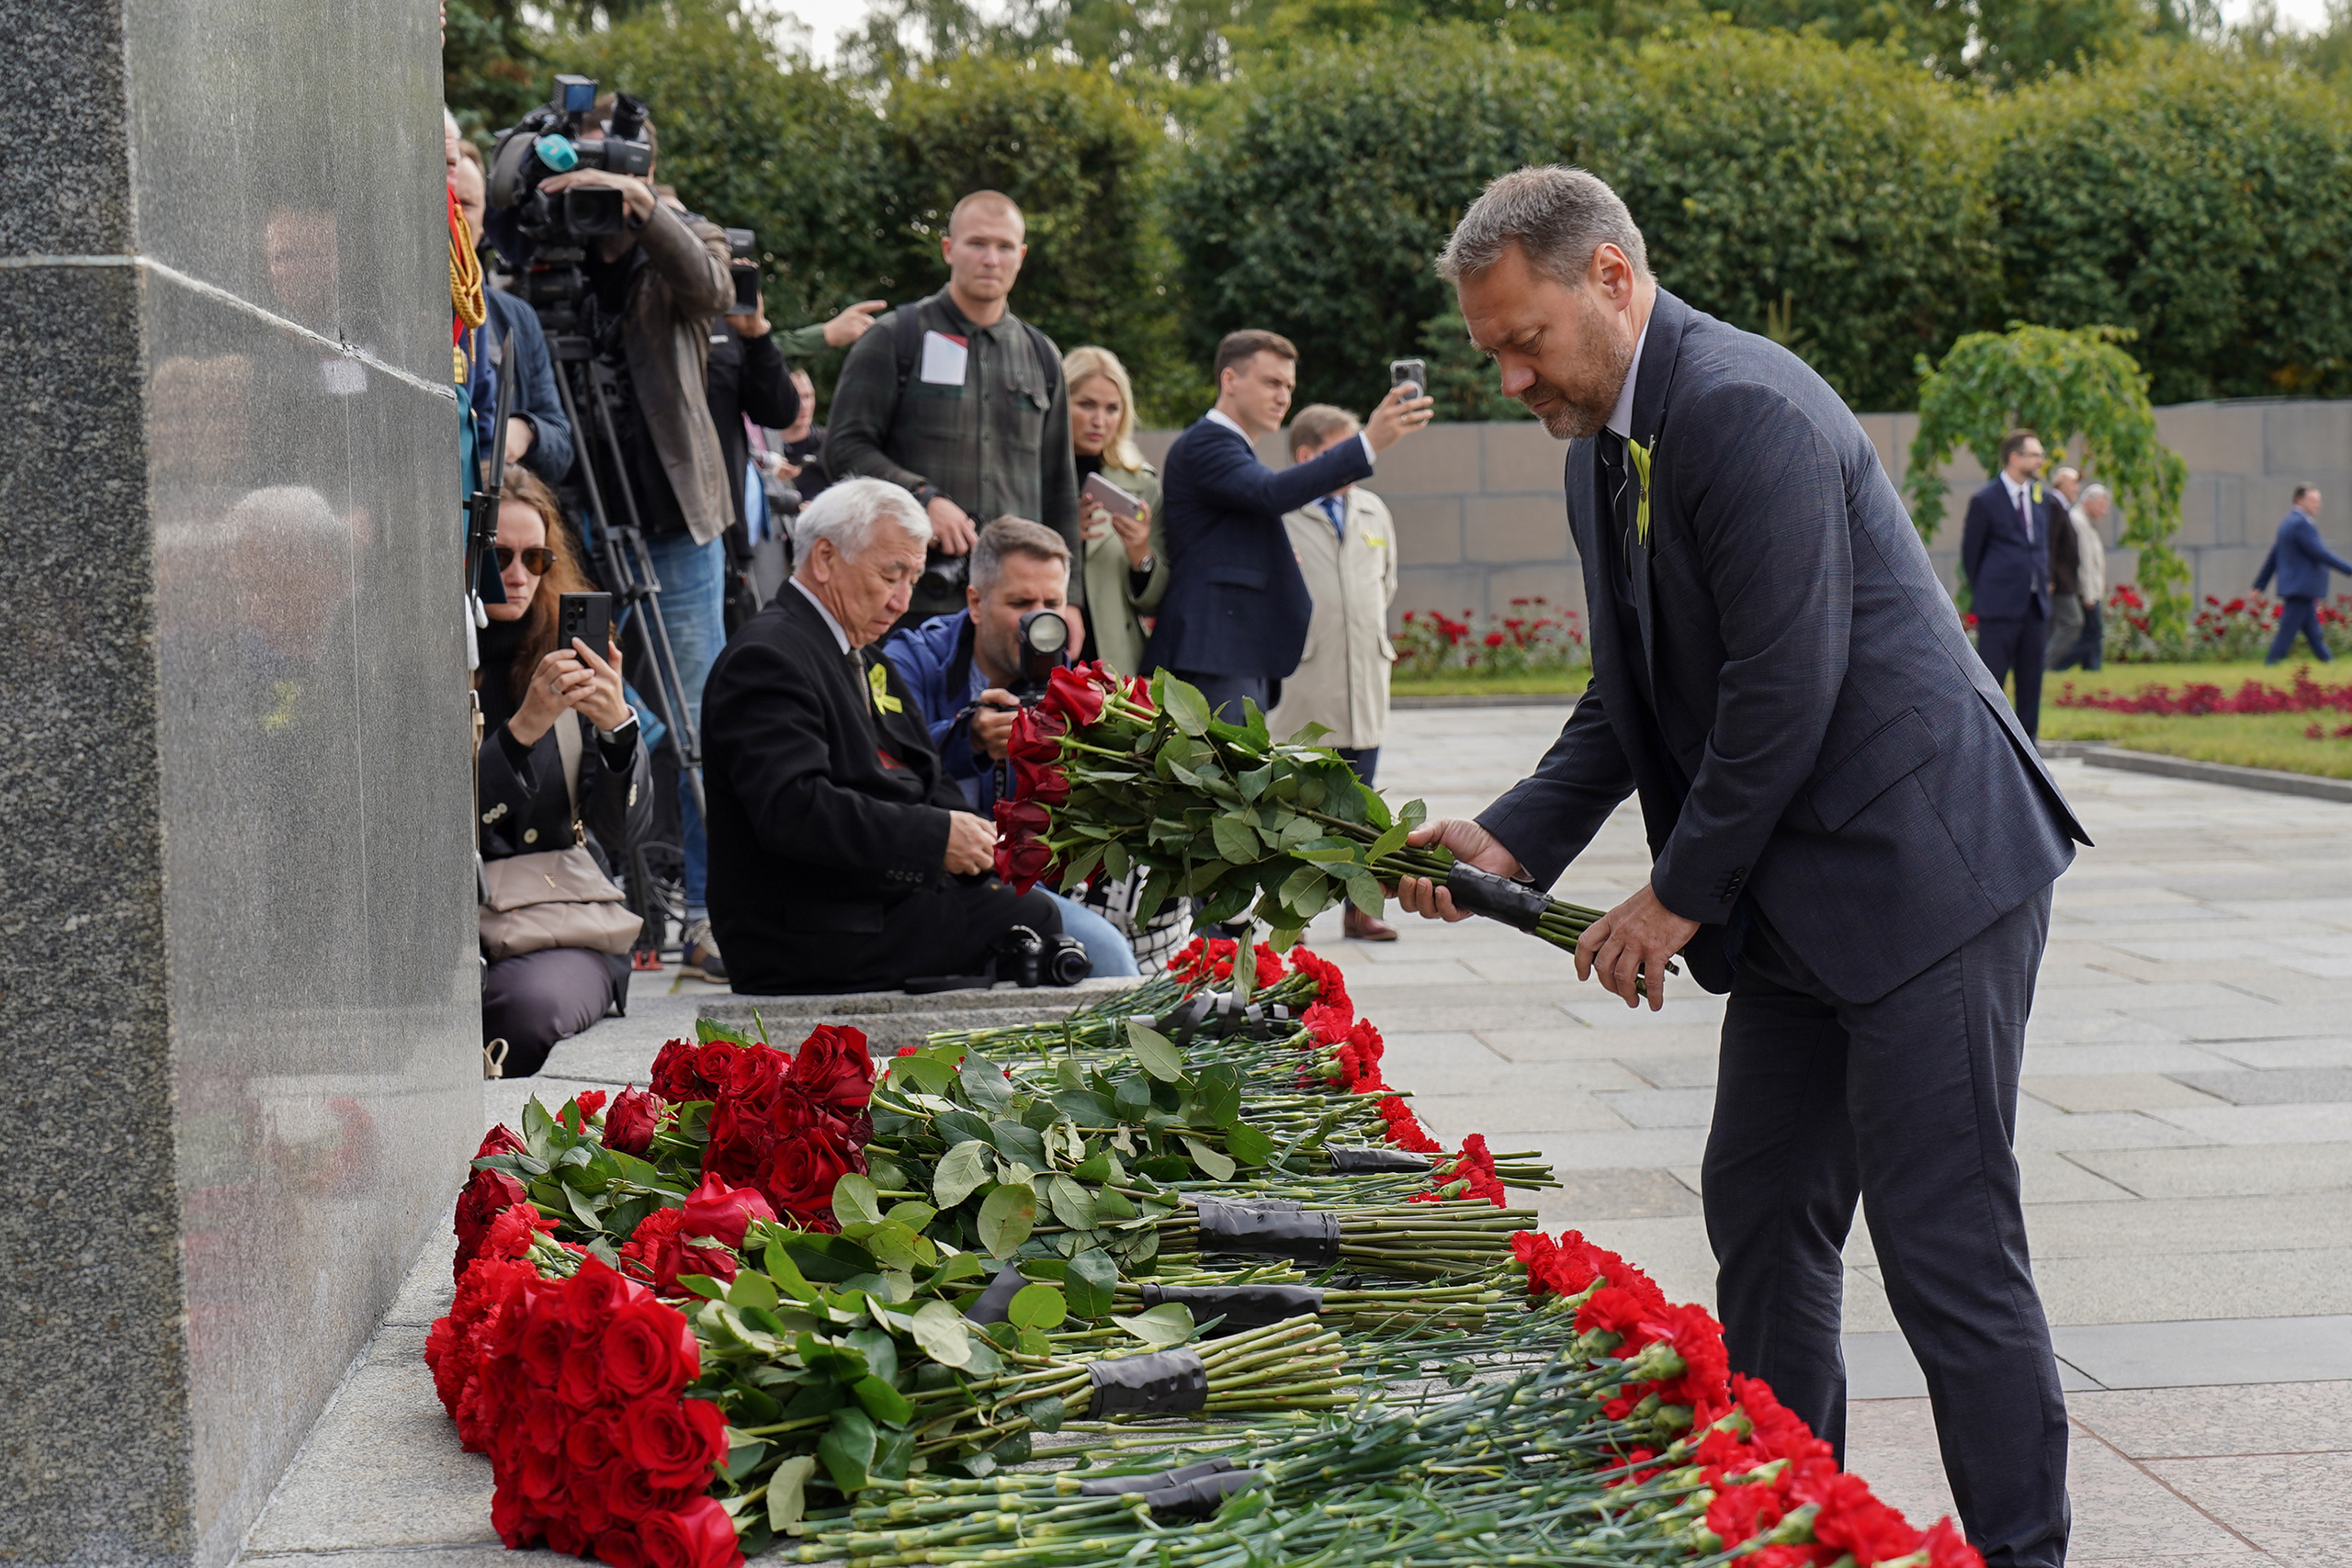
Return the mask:
[[[555,494],[529,470],[508,468],[499,505],[499,581],[482,668],[482,858],[529,856],[572,844],[572,788],[557,724],[576,724],[579,823],[588,853],[612,877],[630,842],[652,825],[654,790],[637,715],[621,693],[621,649],[579,637],[555,646],[560,595],[590,592]],[[628,957],[546,947],[496,959],[482,976],[482,1041],[506,1041],[506,1077],[529,1077],[557,1039],[628,1006]]]

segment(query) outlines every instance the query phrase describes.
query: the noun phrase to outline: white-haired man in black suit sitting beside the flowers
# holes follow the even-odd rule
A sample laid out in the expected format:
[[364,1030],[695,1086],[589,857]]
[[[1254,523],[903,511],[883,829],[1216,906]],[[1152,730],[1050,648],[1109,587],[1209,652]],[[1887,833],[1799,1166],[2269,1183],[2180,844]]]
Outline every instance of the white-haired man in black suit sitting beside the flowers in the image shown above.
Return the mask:
[[710,924],[739,992],[889,990],[978,976],[1054,898],[995,879],[995,825],[938,762],[873,651],[906,614],[931,520],[844,480],[793,520],[795,571],[703,689]]

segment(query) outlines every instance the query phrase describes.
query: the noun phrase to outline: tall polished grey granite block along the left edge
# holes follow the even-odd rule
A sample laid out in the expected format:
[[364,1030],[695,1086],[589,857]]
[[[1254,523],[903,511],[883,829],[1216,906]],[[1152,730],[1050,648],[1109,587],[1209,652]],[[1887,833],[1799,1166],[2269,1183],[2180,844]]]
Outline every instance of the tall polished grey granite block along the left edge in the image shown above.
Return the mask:
[[435,14],[0,40],[0,1563],[226,1563],[480,1133]]

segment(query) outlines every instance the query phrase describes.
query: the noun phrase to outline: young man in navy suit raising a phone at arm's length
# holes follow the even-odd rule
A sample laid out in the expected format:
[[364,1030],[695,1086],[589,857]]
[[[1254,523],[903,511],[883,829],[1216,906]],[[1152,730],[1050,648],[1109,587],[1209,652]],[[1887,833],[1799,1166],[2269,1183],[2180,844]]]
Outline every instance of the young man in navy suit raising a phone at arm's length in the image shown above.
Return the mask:
[[1430,423],[1418,386],[1390,388],[1352,442],[1275,473],[1251,449],[1291,411],[1298,350],[1272,331],[1216,346],[1216,407],[1169,447],[1162,515],[1169,590],[1143,649],[1148,670],[1200,686],[1240,724],[1242,698],[1270,710],[1308,646],[1315,602],[1282,515],[1371,477],[1371,458]]

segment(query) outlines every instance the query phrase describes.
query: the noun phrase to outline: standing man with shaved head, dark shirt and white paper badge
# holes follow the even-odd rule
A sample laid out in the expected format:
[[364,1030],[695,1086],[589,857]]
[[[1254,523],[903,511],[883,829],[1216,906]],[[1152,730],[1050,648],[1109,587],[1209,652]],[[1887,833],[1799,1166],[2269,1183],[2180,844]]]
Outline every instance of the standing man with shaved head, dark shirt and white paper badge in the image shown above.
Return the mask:
[[[1077,536],[1070,397],[1061,350],[1007,308],[1028,254],[1021,209],[974,190],[948,216],[948,287],[875,322],[833,390],[826,470],[868,475],[922,501],[936,545],[915,588],[913,621],[955,614],[974,517],[1035,517]],[[1073,583],[1084,604],[1084,581]]]

